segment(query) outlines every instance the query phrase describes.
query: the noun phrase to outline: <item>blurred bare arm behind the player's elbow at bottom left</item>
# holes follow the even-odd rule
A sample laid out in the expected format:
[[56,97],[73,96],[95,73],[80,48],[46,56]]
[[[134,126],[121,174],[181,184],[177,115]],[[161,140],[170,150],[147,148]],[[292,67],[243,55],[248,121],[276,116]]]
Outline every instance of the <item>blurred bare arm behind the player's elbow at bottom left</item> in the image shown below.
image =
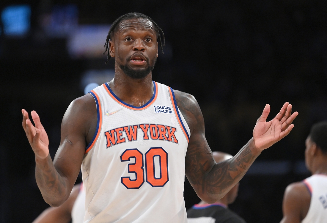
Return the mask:
[[62,205],[45,209],[32,223],[69,223],[72,220],[72,208],[79,189],[80,184],[74,186],[69,198]]

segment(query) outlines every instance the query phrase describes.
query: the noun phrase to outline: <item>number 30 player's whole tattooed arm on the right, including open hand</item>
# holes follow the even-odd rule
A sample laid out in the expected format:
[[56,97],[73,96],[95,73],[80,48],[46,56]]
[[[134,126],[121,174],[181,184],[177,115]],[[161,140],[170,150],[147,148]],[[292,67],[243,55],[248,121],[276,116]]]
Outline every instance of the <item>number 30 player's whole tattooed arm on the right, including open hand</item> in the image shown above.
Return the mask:
[[195,98],[174,90],[176,101],[189,128],[191,136],[185,157],[185,174],[198,196],[207,203],[223,197],[250,168],[262,150],[285,137],[294,127],[292,106],[287,102],[279,114],[266,122],[270,112],[266,105],[253,130],[250,141],[231,159],[216,163],[204,134],[202,112]]

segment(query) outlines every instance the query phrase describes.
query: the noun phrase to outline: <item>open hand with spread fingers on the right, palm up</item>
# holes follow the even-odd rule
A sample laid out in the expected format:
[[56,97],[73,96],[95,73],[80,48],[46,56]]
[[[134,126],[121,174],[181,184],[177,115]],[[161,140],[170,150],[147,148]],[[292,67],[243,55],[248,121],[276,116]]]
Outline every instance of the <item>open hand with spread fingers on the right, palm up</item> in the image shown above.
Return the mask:
[[285,102],[275,118],[266,122],[269,112],[270,106],[267,104],[253,129],[254,145],[259,150],[269,148],[288,135],[294,127],[293,120],[299,114],[299,112],[292,114],[292,105],[288,102]]

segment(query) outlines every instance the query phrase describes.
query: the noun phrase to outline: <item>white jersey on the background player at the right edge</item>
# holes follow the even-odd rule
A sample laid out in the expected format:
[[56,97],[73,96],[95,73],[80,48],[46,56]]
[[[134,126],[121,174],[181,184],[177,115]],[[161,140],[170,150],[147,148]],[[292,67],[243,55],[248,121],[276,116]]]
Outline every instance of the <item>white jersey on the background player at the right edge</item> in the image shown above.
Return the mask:
[[303,182],[311,193],[311,201],[302,223],[327,223],[327,175],[314,174]]

